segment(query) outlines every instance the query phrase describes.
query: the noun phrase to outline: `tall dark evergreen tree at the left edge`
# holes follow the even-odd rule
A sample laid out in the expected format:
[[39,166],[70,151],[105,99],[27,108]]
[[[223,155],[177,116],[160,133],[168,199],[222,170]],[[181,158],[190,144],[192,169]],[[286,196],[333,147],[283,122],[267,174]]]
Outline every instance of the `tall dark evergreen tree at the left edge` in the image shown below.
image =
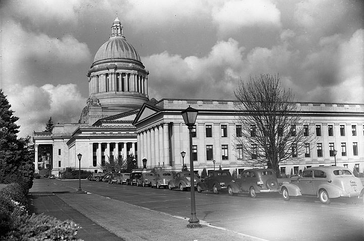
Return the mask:
[[17,139],[19,126],[11,105],[0,89],[0,183],[18,182],[25,189],[32,186],[34,165],[30,137]]

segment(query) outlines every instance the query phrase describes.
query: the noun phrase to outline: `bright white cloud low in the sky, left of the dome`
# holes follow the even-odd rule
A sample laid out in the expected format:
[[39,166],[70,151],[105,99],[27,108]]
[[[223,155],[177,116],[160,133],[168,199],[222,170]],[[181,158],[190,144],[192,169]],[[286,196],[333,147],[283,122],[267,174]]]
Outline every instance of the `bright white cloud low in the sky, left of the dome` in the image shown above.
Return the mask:
[[50,84],[36,87],[14,85],[8,91],[8,100],[19,117],[20,137],[31,135],[33,130],[43,131],[45,123],[52,116],[55,123],[78,122],[85,99],[75,84]]

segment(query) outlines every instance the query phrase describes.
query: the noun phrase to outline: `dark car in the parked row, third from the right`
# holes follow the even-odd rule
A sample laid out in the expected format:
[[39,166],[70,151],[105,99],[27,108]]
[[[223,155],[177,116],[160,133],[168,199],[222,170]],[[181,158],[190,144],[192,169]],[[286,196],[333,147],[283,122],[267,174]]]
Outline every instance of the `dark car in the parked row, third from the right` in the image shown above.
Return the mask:
[[228,188],[227,184],[233,180],[230,171],[214,170],[210,171],[208,176],[201,179],[197,183],[197,192],[212,191],[214,194],[218,194],[220,191]]

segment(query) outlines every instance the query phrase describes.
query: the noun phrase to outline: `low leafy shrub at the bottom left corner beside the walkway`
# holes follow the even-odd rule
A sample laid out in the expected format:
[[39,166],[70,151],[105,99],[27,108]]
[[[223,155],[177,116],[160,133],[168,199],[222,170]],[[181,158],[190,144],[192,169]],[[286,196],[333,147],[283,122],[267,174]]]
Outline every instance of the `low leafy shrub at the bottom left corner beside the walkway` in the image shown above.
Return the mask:
[[80,240],[74,237],[80,228],[73,221],[60,221],[45,214],[12,215],[12,230],[6,235],[9,241]]

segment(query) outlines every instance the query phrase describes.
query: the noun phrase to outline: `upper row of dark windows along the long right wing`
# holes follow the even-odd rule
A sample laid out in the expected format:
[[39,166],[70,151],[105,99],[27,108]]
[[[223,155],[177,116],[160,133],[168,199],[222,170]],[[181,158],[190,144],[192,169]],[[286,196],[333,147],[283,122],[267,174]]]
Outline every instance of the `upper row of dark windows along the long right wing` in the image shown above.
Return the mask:
[[[242,137],[242,126],[241,125],[236,125],[236,137]],[[269,131],[269,128],[266,126],[266,131]],[[304,129],[304,136],[308,136],[308,125],[304,125],[303,126]],[[212,125],[206,125],[205,126],[205,130],[206,130],[206,137],[212,137]],[[254,137],[256,135],[256,126],[252,125],[250,128],[250,136]],[[278,135],[282,136],[283,135],[283,128],[279,128],[278,129]],[[334,126],[333,125],[328,125],[328,135],[330,137],[334,136]],[[352,136],[356,136],[356,125],[351,125],[351,135]],[[364,125],[363,125],[363,135],[364,135]],[[291,136],[296,136],[296,126],[292,125],[291,126]],[[316,125],[316,136],[320,137],[322,136],[322,131],[321,131],[321,125]],[[345,126],[344,125],[340,125],[340,136],[345,136]],[[197,134],[196,134],[196,126],[193,126],[192,129],[192,137],[196,138]],[[221,125],[221,137],[228,137],[228,126],[227,125]]]

